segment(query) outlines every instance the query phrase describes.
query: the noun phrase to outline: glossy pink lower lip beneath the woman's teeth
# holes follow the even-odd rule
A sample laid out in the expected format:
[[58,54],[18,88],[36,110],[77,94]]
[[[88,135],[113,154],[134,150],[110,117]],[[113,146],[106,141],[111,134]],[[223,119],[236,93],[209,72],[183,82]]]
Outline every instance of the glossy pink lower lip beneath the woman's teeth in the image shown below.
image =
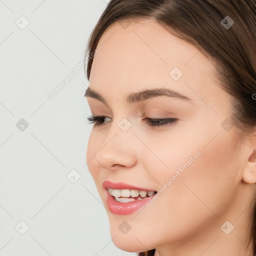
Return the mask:
[[147,204],[150,202],[150,198],[153,197],[153,195],[147,197],[146,199],[141,199],[141,200],[135,200],[131,202],[118,202],[114,199],[112,195],[110,195],[106,189],[107,192],[107,205],[109,210],[113,214],[131,214],[143,205]]

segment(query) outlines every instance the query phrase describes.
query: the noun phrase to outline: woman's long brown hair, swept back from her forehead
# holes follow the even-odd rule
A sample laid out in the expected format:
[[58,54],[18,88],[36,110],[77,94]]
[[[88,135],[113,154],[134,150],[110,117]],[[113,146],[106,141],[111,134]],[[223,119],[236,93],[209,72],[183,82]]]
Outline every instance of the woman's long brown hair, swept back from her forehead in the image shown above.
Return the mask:
[[[232,96],[230,121],[245,132],[255,131],[256,0],[110,0],[90,35],[85,58],[91,56],[111,23],[133,18],[159,22],[210,58],[219,85]],[[90,57],[85,70],[87,79],[92,62]],[[256,255],[255,203],[256,197],[250,210],[252,225],[248,234],[249,242],[253,242],[253,255]],[[154,252],[152,249],[138,255],[153,256]]]

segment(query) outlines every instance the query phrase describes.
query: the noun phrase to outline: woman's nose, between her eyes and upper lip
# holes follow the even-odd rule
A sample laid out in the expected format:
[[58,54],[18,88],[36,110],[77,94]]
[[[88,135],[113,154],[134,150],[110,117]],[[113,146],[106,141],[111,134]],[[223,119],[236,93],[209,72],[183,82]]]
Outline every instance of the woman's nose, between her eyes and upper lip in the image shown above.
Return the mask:
[[108,170],[131,168],[136,164],[136,144],[130,127],[129,130],[121,130],[117,123],[112,123],[104,140],[95,154],[97,164]]

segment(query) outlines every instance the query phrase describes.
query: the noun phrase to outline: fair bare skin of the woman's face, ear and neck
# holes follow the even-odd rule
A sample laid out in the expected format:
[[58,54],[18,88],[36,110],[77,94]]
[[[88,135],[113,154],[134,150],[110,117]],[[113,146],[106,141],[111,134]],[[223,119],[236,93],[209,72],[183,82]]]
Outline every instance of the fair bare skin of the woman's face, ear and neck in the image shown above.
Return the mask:
[[[93,115],[109,118],[92,128],[86,160],[113,243],[133,252],[156,248],[155,256],[251,256],[252,244],[247,254],[245,244],[256,192],[256,140],[235,126],[222,128],[230,119],[231,97],[220,88],[213,62],[149,19],[132,20],[125,29],[111,24],[97,49],[89,87],[109,108],[87,100]],[[169,75],[174,66],[183,72],[176,81]],[[163,86],[192,102],[165,96],[126,102],[131,92]],[[152,128],[142,121],[145,116],[178,121]],[[118,127],[123,118],[131,123],[125,132]],[[102,180],[158,191],[198,150],[200,156],[154,202],[129,215],[109,212]],[[229,234],[220,228],[227,220],[234,226]],[[131,226],[126,234],[118,229],[123,221]]]

